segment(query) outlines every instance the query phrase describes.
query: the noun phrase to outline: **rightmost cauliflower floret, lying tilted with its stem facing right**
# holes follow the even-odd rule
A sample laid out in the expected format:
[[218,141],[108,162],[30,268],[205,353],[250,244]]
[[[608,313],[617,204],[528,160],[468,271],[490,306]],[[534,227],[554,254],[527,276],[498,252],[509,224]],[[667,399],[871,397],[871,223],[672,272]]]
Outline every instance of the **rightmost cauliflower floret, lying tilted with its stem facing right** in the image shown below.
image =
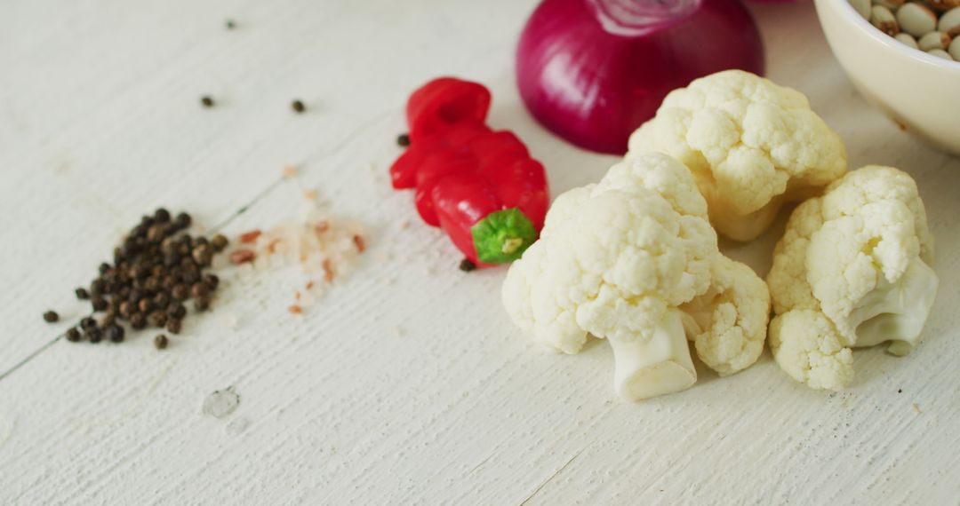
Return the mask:
[[780,367],[813,388],[853,379],[851,348],[890,341],[902,356],[920,340],[937,293],[924,203],[906,173],[869,166],[801,204],[767,275]]

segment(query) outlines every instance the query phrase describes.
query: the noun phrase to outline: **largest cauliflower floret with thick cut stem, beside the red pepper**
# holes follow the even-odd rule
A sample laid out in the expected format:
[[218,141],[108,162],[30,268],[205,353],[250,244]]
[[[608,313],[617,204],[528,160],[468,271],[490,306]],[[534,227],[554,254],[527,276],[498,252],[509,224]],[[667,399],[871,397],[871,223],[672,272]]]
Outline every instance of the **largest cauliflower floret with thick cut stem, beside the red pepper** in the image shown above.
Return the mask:
[[697,380],[687,335],[721,375],[750,366],[770,311],[763,281],[717,249],[692,175],[660,153],[559,196],[540,241],[510,267],[503,302],[525,333],[566,354],[606,338],[631,400]]

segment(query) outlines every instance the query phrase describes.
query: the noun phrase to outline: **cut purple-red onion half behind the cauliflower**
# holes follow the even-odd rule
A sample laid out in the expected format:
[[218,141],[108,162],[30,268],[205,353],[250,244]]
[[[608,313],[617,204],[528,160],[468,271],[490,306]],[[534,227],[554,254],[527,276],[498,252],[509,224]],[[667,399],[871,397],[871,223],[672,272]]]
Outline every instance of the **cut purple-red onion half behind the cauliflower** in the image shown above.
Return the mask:
[[670,90],[732,68],[763,73],[760,35],[737,0],[543,0],[516,52],[537,120],[614,154]]

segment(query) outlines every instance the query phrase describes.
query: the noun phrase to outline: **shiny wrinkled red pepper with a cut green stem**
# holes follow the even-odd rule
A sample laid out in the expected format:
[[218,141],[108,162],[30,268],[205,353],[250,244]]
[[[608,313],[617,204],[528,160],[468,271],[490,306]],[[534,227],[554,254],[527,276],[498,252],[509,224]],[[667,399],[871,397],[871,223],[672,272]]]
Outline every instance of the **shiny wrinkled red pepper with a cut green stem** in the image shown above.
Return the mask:
[[390,168],[415,188],[420,218],[477,265],[513,262],[537,240],[549,206],[546,173],[512,132],[484,124],[490,92],[441,78],[410,96],[410,147]]

